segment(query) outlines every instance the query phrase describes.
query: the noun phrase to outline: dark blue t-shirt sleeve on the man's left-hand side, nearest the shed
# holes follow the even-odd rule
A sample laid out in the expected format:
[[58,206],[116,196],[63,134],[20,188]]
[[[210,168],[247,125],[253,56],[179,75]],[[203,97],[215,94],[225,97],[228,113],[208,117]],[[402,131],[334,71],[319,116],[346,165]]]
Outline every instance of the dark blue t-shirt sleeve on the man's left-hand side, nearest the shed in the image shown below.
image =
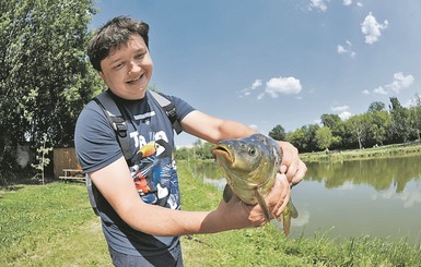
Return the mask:
[[122,157],[115,131],[94,101],[89,102],[78,118],[74,147],[85,173],[100,170]]

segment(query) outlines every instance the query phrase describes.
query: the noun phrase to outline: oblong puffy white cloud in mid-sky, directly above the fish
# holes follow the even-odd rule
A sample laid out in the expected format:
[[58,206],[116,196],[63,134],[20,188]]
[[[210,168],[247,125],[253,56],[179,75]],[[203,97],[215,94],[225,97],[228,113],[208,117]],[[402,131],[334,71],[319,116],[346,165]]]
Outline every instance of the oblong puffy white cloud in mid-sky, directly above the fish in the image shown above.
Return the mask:
[[280,94],[296,95],[301,92],[302,86],[300,80],[295,77],[272,77],[266,82],[265,92],[272,98],[277,98]]

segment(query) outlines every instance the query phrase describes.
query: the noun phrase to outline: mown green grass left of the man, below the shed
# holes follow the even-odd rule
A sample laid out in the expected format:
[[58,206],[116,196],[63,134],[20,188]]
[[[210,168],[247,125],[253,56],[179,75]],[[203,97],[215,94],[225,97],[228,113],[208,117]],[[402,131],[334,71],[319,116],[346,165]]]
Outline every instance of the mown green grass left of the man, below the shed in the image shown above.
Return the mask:
[[81,183],[2,191],[0,255],[0,266],[110,266]]

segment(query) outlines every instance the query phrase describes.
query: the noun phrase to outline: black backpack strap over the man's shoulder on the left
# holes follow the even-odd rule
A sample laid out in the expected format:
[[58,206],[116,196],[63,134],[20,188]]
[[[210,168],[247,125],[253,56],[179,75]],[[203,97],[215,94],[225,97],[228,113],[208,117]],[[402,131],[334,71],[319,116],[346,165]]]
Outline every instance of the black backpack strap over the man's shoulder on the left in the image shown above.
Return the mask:
[[130,149],[129,137],[127,136],[126,118],[124,117],[121,110],[118,108],[117,104],[107,90],[97,95],[93,100],[104,111],[105,117],[108,119],[114,131],[116,132],[125,159],[130,160],[133,154]]

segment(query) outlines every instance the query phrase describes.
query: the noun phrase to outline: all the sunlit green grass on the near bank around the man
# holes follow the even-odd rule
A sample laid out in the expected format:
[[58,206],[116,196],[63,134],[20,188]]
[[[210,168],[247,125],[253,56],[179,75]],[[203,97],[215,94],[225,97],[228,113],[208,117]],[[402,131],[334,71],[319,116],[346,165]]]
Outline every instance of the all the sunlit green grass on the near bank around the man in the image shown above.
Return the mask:
[[[215,207],[221,192],[178,165],[184,209]],[[421,248],[360,236],[289,240],[267,224],[184,236],[186,266],[420,266]],[[82,183],[17,185],[0,193],[0,266],[110,266]]]

